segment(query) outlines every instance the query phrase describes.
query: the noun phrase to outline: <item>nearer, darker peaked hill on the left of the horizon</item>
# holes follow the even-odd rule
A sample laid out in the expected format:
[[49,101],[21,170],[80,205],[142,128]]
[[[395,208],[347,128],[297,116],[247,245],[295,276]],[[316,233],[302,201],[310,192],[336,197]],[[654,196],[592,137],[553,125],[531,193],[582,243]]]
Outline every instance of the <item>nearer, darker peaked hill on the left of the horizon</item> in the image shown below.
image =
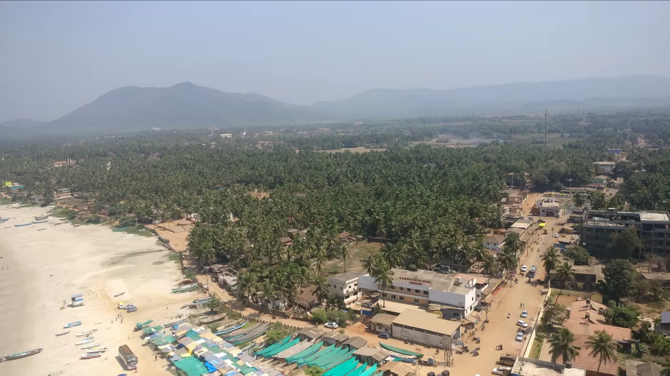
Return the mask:
[[190,82],[169,88],[127,86],[46,124],[48,130],[136,130],[152,127],[205,128],[322,120],[309,106],[260,94],[227,93]]

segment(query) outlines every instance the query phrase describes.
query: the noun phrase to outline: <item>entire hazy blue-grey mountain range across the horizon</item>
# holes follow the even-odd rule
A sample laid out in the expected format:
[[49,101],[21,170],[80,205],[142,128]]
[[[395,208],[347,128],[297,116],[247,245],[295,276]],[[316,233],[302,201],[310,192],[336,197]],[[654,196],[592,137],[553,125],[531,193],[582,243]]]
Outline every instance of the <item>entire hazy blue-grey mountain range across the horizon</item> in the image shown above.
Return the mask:
[[517,82],[450,90],[372,89],[351,98],[298,106],[260,94],[228,93],[183,82],[169,88],[126,86],[50,122],[0,123],[3,130],[46,132],[206,128],[319,120],[450,114],[641,108],[670,104],[670,79],[659,76]]

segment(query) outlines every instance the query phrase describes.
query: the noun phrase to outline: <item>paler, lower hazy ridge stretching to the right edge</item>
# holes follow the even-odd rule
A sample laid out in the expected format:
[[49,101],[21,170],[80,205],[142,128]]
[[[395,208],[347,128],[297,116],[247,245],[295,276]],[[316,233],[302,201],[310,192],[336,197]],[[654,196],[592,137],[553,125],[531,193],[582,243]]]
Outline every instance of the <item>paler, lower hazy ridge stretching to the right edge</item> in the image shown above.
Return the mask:
[[[598,100],[594,100],[598,98]],[[662,100],[659,100],[661,98]],[[670,103],[670,79],[659,76],[586,78],[551,82],[517,82],[450,90],[373,89],[334,102],[317,102],[314,108],[347,116],[421,116],[478,111],[498,112],[536,108],[541,102],[591,100],[599,106],[636,106]],[[610,104],[611,102],[611,104]],[[584,103],[587,104],[587,103]],[[586,109],[586,107],[582,106]]]

